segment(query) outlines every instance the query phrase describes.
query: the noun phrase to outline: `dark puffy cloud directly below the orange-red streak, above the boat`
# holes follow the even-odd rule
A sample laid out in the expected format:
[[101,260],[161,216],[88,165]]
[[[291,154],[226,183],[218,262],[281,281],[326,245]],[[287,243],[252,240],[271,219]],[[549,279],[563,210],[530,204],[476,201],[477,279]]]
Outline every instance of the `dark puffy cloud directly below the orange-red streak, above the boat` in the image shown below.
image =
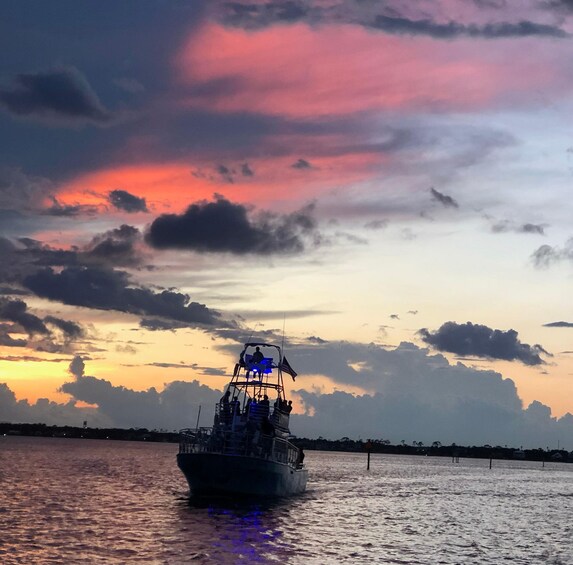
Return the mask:
[[181,215],[159,216],[145,235],[156,249],[237,255],[300,253],[309,239],[318,241],[313,206],[284,216],[255,215],[222,197],[192,204]]

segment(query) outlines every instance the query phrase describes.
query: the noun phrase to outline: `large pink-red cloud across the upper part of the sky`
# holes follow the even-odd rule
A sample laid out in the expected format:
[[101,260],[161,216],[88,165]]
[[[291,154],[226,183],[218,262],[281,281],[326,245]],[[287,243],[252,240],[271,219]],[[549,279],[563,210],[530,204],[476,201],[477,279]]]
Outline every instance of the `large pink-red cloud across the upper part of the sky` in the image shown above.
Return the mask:
[[436,41],[349,25],[245,31],[209,24],[184,46],[177,68],[185,103],[216,111],[464,111],[559,80],[549,54],[536,62],[514,57],[526,48],[527,40]]

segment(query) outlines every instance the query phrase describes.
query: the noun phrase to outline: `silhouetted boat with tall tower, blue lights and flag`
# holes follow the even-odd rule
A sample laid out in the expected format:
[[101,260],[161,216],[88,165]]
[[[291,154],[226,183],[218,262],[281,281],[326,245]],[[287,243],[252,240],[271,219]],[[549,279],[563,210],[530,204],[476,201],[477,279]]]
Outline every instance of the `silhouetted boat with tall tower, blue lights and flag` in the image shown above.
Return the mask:
[[192,495],[283,497],[305,491],[304,452],[292,442],[283,373],[296,372],[281,347],[244,345],[215,406],[213,426],[180,432],[177,465]]

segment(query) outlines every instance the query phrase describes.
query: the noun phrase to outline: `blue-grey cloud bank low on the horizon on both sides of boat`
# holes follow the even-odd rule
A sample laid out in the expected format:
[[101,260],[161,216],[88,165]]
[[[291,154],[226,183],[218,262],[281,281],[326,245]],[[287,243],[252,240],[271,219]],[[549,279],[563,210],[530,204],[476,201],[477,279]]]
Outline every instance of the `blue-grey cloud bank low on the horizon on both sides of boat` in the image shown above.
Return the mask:
[[[335,383],[350,383],[370,391],[287,391],[302,402],[304,413],[291,416],[291,431],[299,436],[530,447],[544,447],[555,437],[573,436],[571,415],[554,418],[551,410],[537,401],[524,409],[511,379],[462,363],[451,365],[442,355],[430,355],[413,344],[388,349],[310,338],[292,348],[289,361],[299,371],[297,385],[304,387],[308,379],[312,386],[315,375],[324,375]],[[219,374],[215,373],[217,369],[200,369]],[[75,403],[82,401],[97,405],[89,416],[90,423],[104,420],[109,426],[171,430],[194,425],[199,406],[201,423],[209,425],[221,396],[217,388],[197,381],[174,381],[161,391],[113,386],[107,380],[85,376],[80,356],[73,358],[69,373],[72,380],[63,384],[61,391],[73,400],[52,403],[51,410],[46,411],[26,402],[17,403],[8,387],[0,385],[3,418],[61,424],[63,417],[58,420],[55,416],[66,415],[81,422],[86,412],[80,412]]]

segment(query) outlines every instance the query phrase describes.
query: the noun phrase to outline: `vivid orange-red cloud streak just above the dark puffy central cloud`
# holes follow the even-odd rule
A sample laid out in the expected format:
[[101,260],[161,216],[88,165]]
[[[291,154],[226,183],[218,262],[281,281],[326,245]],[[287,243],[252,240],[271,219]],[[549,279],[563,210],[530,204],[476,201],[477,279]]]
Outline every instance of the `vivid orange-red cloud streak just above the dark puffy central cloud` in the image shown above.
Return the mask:
[[[249,159],[252,176],[241,171],[242,162],[227,163],[228,175],[213,164],[153,163],[113,167],[82,174],[59,188],[62,204],[109,206],[111,190],[121,189],[145,198],[153,214],[180,212],[190,203],[210,200],[214,193],[229,200],[271,207],[291,202],[296,207],[327,190],[370,176],[384,161],[380,155],[350,153],[336,158],[304,155],[307,167],[293,165],[300,155]],[[336,181],[333,181],[336,179]],[[119,214],[119,212],[118,212]]]

